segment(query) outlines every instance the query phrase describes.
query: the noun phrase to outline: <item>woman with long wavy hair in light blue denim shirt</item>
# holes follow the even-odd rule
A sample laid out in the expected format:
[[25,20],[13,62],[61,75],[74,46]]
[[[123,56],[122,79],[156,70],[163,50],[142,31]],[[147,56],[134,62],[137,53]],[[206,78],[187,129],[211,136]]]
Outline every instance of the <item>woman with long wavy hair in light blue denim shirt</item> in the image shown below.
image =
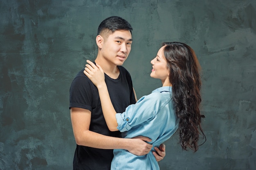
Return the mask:
[[[116,113],[108,95],[101,66],[87,62],[85,75],[97,86],[103,115],[111,131],[120,130],[123,137],[146,136],[150,144],[159,146],[176,130],[182,149],[198,150],[199,135],[203,137],[199,104],[200,74],[197,57],[188,45],[180,42],[163,43],[153,65],[150,77],[160,79],[162,87],[141,97],[136,104]],[[111,169],[159,169],[152,152],[144,156],[132,155],[127,150],[114,150]]]

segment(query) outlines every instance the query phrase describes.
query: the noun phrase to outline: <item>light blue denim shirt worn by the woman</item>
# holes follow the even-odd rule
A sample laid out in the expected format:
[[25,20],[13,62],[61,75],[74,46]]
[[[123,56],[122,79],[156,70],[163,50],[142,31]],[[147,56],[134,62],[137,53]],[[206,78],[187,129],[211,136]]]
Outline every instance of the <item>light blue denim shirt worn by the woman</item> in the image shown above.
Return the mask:
[[[149,137],[152,139],[149,143],[156,147],[169,139],[178,128],[171,91],[169,86],[157,88],[128,106],[124,113],[117,113],[117,128],[123,137]],[[127,150],[115,149],[111,170],[117,169],[159,170],[159,166],[152,152],[136,156]]]

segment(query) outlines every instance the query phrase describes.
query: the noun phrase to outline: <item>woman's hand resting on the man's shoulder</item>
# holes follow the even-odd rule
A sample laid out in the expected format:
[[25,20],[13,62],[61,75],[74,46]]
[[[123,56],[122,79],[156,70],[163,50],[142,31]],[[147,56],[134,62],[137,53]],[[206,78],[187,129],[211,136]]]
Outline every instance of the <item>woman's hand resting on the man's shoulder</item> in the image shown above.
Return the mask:
[[99,87],[105,84],[105,74],[101,66],[96,65],[90,60],[86,60],[88,64],[85,64],[85,70],[83,73],[92,81],[92,83]]

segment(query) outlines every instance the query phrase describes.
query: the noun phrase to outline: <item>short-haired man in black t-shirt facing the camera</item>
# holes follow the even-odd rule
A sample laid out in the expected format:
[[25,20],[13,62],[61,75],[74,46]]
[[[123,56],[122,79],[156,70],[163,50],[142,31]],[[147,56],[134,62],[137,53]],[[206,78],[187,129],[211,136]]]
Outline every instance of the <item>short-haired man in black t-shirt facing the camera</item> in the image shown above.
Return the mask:
[[[136,102],[132,80],[122,67],[132,44],[132,27],[120,17],[109,17],[98,28],[95,62],[103,68],[110,98],[118,113]],[[145,155],[152,145],[148,137],[121,138],[121,132],[111,132],[101,110],[99,93],[81,70],[70,87],[70,115],[76,140],[74,170],[110,170],[113,149],[126,149],[135,155]],[[165,156],[164,145],[153,152],[157,161]],[[125,162],[124,162],[125,163]]]

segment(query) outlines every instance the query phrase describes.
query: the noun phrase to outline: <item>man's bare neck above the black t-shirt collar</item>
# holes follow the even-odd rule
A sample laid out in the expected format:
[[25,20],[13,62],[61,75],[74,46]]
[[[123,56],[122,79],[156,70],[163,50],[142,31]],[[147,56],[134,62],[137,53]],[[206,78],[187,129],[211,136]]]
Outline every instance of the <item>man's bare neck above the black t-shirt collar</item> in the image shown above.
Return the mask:
[[97,63],[103,69],[104,73],[111,77],[112,79],[117,79],[119,76],[119,69],[117,65],[110,63],[108,60],[104,60],[101,57],[97,57],[95,59],[95,63]]

